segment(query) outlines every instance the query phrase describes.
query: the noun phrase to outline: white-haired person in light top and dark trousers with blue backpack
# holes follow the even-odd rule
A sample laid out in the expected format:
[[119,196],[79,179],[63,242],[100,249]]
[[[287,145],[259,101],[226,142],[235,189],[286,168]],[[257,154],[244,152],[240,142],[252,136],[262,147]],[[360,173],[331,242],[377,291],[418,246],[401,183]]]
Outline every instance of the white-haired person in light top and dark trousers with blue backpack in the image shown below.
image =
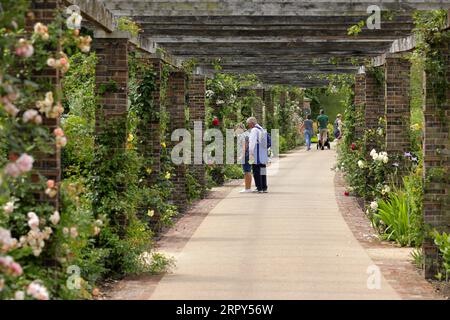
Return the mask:
[[268,136],[267,131],[258,124],[255,117],[247,119],[250,129],[249,137],[249,163],[252,165],[253,179],[256,190],[254,192],[267,193],[267,161]]

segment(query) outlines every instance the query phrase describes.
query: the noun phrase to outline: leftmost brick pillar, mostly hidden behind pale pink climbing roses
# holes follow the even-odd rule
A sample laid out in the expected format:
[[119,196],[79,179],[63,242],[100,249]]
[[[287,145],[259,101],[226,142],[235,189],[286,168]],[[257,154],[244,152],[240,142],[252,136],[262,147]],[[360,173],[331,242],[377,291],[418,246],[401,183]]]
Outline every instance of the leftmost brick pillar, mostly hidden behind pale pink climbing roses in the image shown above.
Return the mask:
[[[37,22],[42,22],[46,25],[53,22],[57,8],[58,6],[56,0],[31,1],[30,11],[32,12],[33,16],[28,16],[26,18],[26,30],[32,32],[34,24]],[[58,72],[54,69],[45,68],[42,71],[34,73],[33,80],[37,83],[50,82],[52,84],[53,94],[56,95],[56,89],[59,83],[59,75]],[[37,94],[39,100],[44,99],[46,91],[47,90],[44,90]],[[47,128],[50,133],[52,133],[55,128],[60,126],[59,118],[46,118],[44,114],[42,114],[42,117],[42,126]],[[51,153],[36,152],[35,154],[33,154],[35,158],[33,168],[36,172],[38,172],[45,178],[55,180],[56,183],[59,183],[61,181],[61,151],[60,149],[56,148],[54,144],[50,145],[50,149]],[[34,182],[39,181],[38,174],[33,174],[32,180]],[[49,202],[52,206],[55,206],[56,208],[59,207],[59,194],[54,198],[49,198],[47,195],[45,195],[44,191],[36,192],[34,195],[39,202]]]

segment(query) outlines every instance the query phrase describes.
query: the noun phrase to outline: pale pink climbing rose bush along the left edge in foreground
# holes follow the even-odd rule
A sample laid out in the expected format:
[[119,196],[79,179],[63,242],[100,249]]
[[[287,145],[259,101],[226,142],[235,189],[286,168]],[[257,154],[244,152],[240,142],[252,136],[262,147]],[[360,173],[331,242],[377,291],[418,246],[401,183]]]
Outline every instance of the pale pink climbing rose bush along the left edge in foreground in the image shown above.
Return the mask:
[[[64,111],[59,85],[33,75],[49,69],[60,80],[71,68],[69,53],[88,53],[92,39],[81,36],[79,27],[68,28],[60,16],[50,25],[35,21],[25,31],[27,4],[6,1],[9,14],[0,18],[0,299],[48,300],[46,265],[58,259],[50,250],[61,217],[52,202],[38,202],[34,194],[55,199],[59,186],[34,165],[41,154],[63,148],[67,138],[61,128],[49,132],[43,126],[45,118],[57,119]],[[80,26],[81,16],[70,21]],[[77,226],[68,233],[76,237]]]

